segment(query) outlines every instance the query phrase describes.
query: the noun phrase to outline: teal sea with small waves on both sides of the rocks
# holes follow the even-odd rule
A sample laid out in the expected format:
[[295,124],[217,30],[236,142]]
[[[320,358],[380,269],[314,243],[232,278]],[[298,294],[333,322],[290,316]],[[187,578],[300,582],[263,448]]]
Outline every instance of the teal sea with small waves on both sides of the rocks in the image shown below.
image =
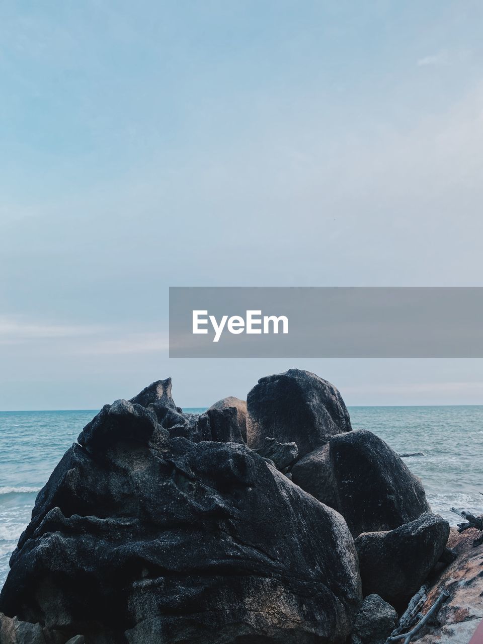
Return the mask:
[[[202,408],[185,408],[200,413]],[[483,406],[350,407],[354,430],[373,431],[421,478],[433,512],[483,513]],[[0,588],[35,497],[97,410],[0,412]]]

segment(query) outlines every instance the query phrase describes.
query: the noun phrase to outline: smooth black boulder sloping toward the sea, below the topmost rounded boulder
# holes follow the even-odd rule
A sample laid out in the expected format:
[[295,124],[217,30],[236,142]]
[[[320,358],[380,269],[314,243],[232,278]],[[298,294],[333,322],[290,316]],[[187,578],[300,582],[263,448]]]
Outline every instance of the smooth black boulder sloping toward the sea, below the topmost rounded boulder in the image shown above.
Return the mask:
[[391,530],[431,511],[419,478],[371,431],[334,436],[330,462],[337,511],[354,536]]

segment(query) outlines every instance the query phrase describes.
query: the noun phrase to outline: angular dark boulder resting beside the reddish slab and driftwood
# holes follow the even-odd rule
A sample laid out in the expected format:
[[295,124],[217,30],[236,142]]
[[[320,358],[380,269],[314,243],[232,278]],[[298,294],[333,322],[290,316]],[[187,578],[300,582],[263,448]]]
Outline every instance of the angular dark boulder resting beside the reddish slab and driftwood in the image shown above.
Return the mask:
[[355,540],[365,596],[376,593],[405,609],[440,558],[450,526],[424,514],[392,531],[363,533]]

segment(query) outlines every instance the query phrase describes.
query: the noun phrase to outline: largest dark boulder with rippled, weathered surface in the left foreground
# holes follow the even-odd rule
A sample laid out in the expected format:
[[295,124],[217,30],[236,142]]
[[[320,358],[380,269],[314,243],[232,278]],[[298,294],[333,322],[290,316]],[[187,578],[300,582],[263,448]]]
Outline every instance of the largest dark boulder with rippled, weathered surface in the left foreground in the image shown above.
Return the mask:
[[170,435],[165,403],[117,401],[84,428],[0,611],[93,644],[343,644],[361,603],[343,518],[241,443]]

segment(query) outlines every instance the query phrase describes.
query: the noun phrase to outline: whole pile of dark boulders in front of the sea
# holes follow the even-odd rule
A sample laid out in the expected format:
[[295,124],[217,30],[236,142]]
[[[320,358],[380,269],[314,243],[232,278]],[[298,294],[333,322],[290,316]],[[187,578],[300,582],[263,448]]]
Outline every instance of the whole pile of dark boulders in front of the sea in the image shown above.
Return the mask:
[[201,414],[158,381],[105,405],[39,493],[0,644],[381,644],[386,602],[403,609],[444,551],[428,511],[314,374]]

